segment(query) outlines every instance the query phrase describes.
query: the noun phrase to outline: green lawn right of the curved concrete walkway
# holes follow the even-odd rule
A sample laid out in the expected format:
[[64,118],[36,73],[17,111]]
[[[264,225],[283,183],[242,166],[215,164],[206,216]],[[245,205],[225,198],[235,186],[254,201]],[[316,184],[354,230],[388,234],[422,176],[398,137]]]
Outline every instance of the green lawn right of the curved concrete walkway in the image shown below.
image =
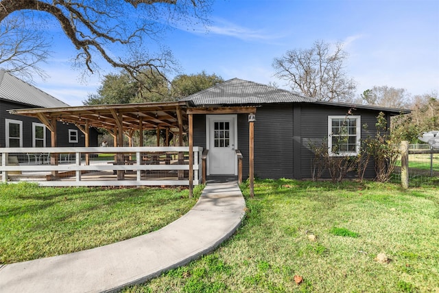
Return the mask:
[[242,189],[233,237],[123,292],[439,292],[437,187],[263,180],[254,199]]

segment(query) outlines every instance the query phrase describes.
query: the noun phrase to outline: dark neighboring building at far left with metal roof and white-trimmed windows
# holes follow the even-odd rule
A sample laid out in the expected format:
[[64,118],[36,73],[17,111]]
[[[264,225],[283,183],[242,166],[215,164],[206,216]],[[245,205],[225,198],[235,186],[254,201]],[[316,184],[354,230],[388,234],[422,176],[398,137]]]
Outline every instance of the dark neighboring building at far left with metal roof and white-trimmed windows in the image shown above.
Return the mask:
[[[69,107],[59,99],[0,70],[0,148],[45,148],[51,134],[36,118],[13,115],[11,109]],[[84,135],[73,124],[57,123],[57,146],[84,146]],[[97,146],[97,131],[91,132],[90,146]]]

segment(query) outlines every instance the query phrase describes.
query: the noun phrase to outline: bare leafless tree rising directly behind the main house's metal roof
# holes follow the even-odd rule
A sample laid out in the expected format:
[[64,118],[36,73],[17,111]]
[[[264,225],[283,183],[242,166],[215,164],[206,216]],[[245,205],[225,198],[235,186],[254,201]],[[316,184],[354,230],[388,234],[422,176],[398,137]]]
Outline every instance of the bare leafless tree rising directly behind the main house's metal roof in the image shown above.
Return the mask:
[[322,40],[310,49],[287,51],[275,58],[276,76],[287,80],[292,90],[323,101],[344,102],[355,93],[355,81],[344,69],[348,54],[340,43],[332,46]]

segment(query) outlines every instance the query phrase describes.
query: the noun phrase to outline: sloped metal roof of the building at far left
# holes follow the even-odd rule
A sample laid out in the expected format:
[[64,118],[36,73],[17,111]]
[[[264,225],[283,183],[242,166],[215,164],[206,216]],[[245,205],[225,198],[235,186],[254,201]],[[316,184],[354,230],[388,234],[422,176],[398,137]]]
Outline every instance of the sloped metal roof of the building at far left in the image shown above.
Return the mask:
[[3,69],[0,69],[0,99],[43,108],[69,106]]

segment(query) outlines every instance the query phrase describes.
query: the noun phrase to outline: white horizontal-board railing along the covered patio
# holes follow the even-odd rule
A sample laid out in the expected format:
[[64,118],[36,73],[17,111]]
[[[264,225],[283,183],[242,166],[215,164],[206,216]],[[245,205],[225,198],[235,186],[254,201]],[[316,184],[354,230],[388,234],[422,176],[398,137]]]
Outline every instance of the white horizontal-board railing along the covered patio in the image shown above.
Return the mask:
[[[42,186],[189,185],[188,147],[0,148],[1,180]],[[193,185],[202,182],[193,147]]]

